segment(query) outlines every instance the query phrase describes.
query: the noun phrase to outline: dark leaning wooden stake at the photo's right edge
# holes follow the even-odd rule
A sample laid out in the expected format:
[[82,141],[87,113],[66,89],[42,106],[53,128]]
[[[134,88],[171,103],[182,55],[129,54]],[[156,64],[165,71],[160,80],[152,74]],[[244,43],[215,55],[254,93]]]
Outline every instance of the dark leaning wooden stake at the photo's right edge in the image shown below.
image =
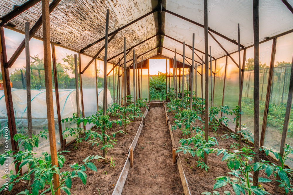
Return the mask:
[[[292,64],[291,64],[291,75],[293,75],[293,58],[292,58]],[[286,138],[287,138],[287,132],[288,132],[288,126],[289,126],[289,119],[290,119],[290,113],[292,108],[292,96],[293,96],[293,77],[290,77],[290,83],[289,83],[289,93],[288,93],[288,99],[287,99],[287,106],[286,106],[286,112],[285,112],[285,119],[284,119],[284,126],[283,126],[283,132],[282,132],[282,139],[281,139],[281,146],[280,146],[280,156],[283,157],[284,154],[284,148],[286,146]],[[278,166],[282,166],[282,162],[278,161]],[[277,174],[276,181],[275,181],[275,189],[274,191],[276,193],[280,190],[280,183],[277,182],[277,180],[280,180],[280,176]]]

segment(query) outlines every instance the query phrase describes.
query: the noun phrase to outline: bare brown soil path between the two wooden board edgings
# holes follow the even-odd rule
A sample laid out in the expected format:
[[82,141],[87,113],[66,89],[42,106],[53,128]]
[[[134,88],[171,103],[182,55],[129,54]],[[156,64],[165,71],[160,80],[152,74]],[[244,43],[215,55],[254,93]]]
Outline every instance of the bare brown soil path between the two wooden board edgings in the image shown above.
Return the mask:
[[163,107],[151,107],[122,194],[184,194]]

